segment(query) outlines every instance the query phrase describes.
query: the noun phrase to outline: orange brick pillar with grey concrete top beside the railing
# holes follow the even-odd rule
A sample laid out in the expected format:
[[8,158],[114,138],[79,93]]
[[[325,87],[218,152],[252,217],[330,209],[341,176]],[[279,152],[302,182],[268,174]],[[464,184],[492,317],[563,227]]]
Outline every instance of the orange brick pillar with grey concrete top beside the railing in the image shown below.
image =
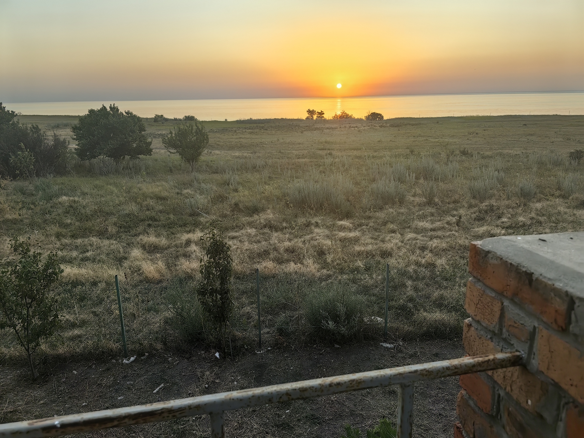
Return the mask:
[[584,438],[584,232],[472,242],[463,343],[525,366],[460,376],[457,438]]

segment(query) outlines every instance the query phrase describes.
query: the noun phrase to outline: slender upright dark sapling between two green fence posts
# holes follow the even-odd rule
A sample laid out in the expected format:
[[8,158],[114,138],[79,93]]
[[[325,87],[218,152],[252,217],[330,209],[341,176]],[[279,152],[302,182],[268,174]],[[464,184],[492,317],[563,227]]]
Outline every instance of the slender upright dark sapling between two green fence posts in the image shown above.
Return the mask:
[[233,264],[230,246],[223,234],[217,231],[217,225],[214,223],[207,226],[207,231],[201,236],[201,242],[206,248],[205,255],[200,261],[201,281],[197,285],[197,298],[221,339],[225,355],[225,332],[233,309],[231,300]]

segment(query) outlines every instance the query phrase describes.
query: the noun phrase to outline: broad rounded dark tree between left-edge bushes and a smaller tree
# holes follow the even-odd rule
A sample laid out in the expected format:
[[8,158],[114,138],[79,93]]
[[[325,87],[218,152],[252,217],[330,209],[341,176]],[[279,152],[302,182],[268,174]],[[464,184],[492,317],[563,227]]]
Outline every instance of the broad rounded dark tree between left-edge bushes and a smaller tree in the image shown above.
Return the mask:
[[116,105],[90,109],[71,127],[79,158],[109,157],[116,162],[125,157],[152,155],[152,140],[148,140],[145,130],[140,117],[131,111],[121,112]]

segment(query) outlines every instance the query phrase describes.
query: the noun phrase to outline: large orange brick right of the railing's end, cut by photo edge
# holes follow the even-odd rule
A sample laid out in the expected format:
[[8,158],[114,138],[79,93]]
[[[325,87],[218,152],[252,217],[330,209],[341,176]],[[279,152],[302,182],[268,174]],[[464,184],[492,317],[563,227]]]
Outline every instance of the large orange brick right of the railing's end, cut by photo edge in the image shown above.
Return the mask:
[[584,402],[584,357],[578,349],[540,327],[537,361],[546,376],[580,403]]

